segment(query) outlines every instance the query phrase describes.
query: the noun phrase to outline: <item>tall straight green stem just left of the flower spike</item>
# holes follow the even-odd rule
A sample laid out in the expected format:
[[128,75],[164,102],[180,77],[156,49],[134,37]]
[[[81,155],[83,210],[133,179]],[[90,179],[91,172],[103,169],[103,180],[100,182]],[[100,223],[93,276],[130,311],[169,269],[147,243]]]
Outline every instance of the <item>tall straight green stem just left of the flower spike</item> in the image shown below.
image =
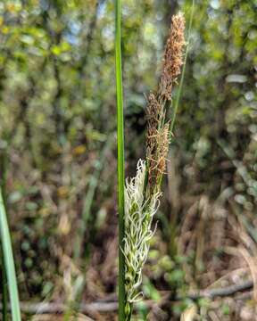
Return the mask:
[[115,58],[116,58],[116,90],[117,90],[117,136],[118,136],[118,202],[119,202],[119,321],[125,320],[125,258],[124,249],[124,117],[121,71],[120,40],[120,0],[115,0]]

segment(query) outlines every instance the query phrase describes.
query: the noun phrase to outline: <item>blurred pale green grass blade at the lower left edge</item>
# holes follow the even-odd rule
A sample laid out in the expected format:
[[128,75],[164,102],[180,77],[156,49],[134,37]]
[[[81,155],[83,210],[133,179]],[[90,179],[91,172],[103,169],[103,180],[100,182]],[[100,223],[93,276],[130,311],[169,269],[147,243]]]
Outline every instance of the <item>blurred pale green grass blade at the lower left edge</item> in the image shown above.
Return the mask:
[[11,235],[9,232],[2,189],[0,187],[0,235],[4,252],[4,268],[7,276],[8,290],[11,302],[12,321],[21,321],[18,287],[12,255]]

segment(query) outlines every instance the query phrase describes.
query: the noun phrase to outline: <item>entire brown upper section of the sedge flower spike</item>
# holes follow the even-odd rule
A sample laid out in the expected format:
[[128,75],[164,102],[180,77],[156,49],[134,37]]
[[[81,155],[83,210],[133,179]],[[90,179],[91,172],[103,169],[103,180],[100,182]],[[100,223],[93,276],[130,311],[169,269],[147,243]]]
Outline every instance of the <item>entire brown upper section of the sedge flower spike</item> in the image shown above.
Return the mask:
[[147,105],[146,158],[148,171],[148,196],[158,191],[166,170],[169,151],[169,125],[165,122],[165,105],[171,100],[171,90],[183,64],[185,19],[182,13],[172,17],[162,65],[162,76],[157,94],[150,93]]

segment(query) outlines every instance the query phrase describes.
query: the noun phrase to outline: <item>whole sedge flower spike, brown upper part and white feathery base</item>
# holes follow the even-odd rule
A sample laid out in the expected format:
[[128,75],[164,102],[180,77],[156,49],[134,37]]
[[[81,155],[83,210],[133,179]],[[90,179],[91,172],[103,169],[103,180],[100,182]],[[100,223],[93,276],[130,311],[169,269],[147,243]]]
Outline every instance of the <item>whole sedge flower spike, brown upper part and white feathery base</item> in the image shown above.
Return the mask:
[[[120,250],[125,257],[125,320],[129,321],[133,303],[140,300],[142,270],[154,234],[153,216],[162,196],[162,177],[170,144],[168,118],[172,88],[183,65],[185,19],[182,13],[171,20],[165,46],[162,74],[158,90],[150,93],[147,103],[146,159],[137,162],[137,175],[125,184],[124,238]],[[174,114],[174,112],[173,112]]]

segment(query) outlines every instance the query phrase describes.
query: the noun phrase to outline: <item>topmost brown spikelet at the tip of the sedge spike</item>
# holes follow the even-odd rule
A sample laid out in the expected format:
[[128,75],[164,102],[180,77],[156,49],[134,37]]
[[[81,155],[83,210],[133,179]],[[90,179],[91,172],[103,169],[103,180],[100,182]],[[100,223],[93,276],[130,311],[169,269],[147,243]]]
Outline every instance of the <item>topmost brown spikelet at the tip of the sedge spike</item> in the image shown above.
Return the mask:
[[171,19],[170,35],[165,46],[160,82],[160,95],[168,100],[171,99],[172,86],[176,83],[183,65],[184,30],[185,18],[183,13],[178,12]]

